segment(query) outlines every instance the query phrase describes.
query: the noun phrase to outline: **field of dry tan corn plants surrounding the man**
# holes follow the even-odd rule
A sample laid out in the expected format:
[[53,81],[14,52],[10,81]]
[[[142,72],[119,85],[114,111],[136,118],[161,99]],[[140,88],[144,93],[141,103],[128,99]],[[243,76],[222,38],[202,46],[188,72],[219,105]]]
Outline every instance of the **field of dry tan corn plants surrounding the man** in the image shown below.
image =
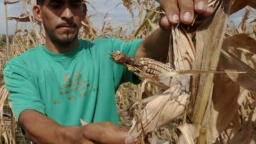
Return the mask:
[[[26,13],[9,17],[8,5],[22,3]],[[90,4],[90,1],[86,2]],[[159,26],[159,0],[122,0],[140,25],[127,33],[102,22],[97,31],[87,15],[79,38],[115,37],[128,41],[145,38]],[[168,61],[140,59],[143,67],[120,63],[138,75],[141,84],[122,84],[116,93],[120,124],[138,139],[150,144],[256,144],[256,1],[246,6],[239,0],[209,0],[215,9],[207,19],[190,26],[172,26]],[[1,38],[1,72],[10,58],[19,56],[45,40],[44,29],[31,15],[33,0],[4,0],[6,36]],[[236,26],[232,13],[245,6]],[[134,13],[134,10],[138,10]],[[136,18],[137,19],[137,18]],[[15,20],[15,34],[8,35],[8,21]],[[19,28],[26,22],[31,29]],[[131,29],[130,29],[131,30]],[[113,55],[114,54],[114,55]],[[116,62],[115,54],[112,59]],[[127,58],[127,61],[133,60]],[[157,67],[164,67],[161,73]],[[0,90],[0,143],[29,143],[12,113],[9,93]]]

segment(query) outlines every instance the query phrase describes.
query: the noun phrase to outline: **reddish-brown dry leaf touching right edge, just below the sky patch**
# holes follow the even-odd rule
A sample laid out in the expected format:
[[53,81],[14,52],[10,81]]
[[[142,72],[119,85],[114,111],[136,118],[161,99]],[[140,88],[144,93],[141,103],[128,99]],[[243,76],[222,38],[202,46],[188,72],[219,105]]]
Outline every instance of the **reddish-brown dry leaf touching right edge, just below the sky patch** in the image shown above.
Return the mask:
[[238,33],[225,38],[223,45],[228,45],[241,51],[256,54],[256,40],[247,33]]

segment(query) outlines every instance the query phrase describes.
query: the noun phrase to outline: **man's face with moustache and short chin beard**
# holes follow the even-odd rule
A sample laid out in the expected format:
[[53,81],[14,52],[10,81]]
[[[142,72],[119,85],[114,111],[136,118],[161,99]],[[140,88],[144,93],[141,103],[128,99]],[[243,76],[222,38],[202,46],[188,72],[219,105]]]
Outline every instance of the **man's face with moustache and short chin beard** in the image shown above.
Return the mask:
[[40,6],[45,33],[58,44],[76,40],[85,13],[81,0],[45,0]]

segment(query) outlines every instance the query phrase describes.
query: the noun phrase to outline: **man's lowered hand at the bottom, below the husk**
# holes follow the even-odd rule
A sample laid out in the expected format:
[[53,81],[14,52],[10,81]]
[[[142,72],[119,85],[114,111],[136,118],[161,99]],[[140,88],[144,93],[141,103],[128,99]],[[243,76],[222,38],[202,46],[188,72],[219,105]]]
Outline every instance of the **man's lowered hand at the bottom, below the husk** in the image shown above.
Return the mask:
[[[91,123],[83,127],[64,128],[67,131],[67,141],[77,144],[132,144],[134,138],[123,129],[110,122]],[[74,131],[70,131],[70,130]],[[63,141],[65,143],[65,141]],[[68,142],[70,143],[70,142]]]

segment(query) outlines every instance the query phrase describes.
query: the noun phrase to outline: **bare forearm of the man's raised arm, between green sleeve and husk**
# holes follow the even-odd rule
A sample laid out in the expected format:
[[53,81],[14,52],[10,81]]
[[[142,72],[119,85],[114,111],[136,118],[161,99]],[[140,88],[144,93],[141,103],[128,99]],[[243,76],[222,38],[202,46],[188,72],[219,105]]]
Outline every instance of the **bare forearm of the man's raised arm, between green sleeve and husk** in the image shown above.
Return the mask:
[[158,28],[142,42],[135,57],[147,57],[166,62],[169,40],[170,31]]

